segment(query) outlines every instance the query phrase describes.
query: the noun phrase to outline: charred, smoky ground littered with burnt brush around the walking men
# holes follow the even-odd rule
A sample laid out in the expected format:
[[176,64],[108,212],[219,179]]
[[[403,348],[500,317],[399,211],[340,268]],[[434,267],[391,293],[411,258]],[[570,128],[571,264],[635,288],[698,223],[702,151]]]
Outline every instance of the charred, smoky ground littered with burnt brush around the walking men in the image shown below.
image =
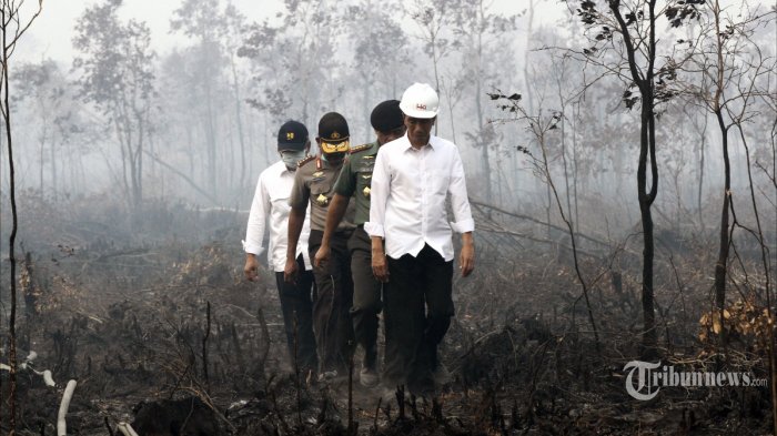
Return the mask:
[[[120,422],[148,435],[335,435],[349,433],[349,415],[352,430],[374,435],[770,430],[767,385],[666,387],[647,402],[627,394],[624,365],[640,355],[638,237],[582,240],[597,343],[568,240],[482,215],[477,268],[455,282],[457,313],[443,346],[452,383],[435,398],[414,398],[354,382],[349,407],[347,379],[315,384],[285,362],[272,275],[242,280],[243,214],[155,204],[131,220],[110,202],[73,204],[54,210],[30,195],[22,209],[36,219],[22,222],[19,346],[38,358],[19,373],[18,434],[54,434],[69,379],[78,386],[68,430],[79,435],[107,435]],[[731,271],[730,316],[704,320],[714,243],[690,233],[668,240],[656,271],[656,361],[767,378],[761,307],[748,300],[757,267],[743,255],[748,275]],[[750,329],[737,316],[751,317]],[[715,342],[722,328],[731,337],[726,353]],[[32,369],[50,369],[57,387]]]

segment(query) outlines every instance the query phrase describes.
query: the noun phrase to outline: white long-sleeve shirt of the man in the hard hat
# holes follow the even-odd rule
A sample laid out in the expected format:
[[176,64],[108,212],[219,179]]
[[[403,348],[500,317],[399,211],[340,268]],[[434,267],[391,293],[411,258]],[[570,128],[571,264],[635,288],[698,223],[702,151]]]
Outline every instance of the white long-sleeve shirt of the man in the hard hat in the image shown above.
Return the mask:
[[[455,222],[447,222],[445,201],[451,195]],[[428,145],[414,149],[407,135],[381,148],[372,173],[370,236],[385,239],[386,255],[417,256],[428,244],[445,261],[453,260],[452,230],[475,230],[464,180],[464,166],[455,144],[431,136]]]

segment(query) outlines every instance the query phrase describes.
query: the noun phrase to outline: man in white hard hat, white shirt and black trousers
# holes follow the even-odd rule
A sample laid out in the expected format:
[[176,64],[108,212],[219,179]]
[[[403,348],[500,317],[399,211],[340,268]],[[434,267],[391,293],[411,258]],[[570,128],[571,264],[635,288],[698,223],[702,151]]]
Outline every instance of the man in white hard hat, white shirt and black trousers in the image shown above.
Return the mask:
[[[462,235],[462,276],[475,266],[475,222],[458,149],[431,134],[438,107],[428,84],[405,90],[400,109],[407,133],[377,153],[370,221],[364,224],[372,237],[373,274],[391,283],[384,292],[384,316],[386,342],[396,349],[386,355],[384,384],[404,384],[417,394],[431,393],[444,372],[437,346],[454,314],[452,231]],[[448,195],[455,219],[451,223]]]

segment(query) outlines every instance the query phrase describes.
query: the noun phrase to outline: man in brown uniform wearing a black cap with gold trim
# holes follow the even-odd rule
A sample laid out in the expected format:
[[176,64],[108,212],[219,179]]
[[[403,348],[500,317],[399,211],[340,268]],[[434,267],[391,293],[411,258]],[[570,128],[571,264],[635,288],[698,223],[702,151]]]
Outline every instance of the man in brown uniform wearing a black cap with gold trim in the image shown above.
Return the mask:
[[[286,249],[286,281],[295,281],[296,243],[302,231],[307,204],[311,206],[311,234],[307,241],[311,257],[321,246],[334,183],[351,150],[349,124],[336,112],[324,114],[319,121],[315,139],[321,153],[300,161],[294,175],[294,187],[289,199],[289,246]],[[349,310],[353,300],[351,256],[347,241],[354,230],[353,206],[334,230],[330,246],[332,255],[325,264],[313,267],[317,295],[313,304],[313,328],[319,349],[319,378],[332,378],[346,373],[351,355],[353,328]]]

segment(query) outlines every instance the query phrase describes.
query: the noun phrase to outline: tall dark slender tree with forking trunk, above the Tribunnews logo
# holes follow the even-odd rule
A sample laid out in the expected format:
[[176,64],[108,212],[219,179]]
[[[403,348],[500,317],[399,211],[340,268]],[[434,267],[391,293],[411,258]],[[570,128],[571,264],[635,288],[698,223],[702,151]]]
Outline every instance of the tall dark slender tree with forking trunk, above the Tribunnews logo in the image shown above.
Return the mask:
[[[573,4],[573,1],[567,1]],[[627,108],[639,107],[639,153],[637,197],[643,230],[643,356],[657,353],[654,301],[654,221],[652,206],[658,194],[656,159],[657,108],[674,95],[672,82],[683,59],[672,48],[662,51],[656,33],[659,26],[683,26],[698,17],[697,1],[609,0],[575,1],[573,9],[586,26],[592,44],[582,50],[583,59],[619,78],[626,90]],[[664,21],[664,19],[666,21]],[[649,173],[648,173],[649,168]]]

